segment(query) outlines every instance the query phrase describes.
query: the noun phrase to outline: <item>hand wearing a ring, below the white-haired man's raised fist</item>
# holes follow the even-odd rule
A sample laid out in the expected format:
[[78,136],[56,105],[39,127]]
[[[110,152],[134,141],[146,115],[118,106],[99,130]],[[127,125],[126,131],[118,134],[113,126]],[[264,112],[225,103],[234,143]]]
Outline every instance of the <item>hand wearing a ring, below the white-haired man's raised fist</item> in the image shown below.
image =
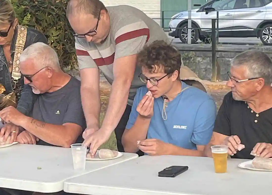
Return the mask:
[[19,126],[13,123],[6,123],[0,130],[0,138],[3,138],[3,142],[6,142],[10,136],[11,138],[8,140],[7,144],[13,143],[15,142],[19,131]]

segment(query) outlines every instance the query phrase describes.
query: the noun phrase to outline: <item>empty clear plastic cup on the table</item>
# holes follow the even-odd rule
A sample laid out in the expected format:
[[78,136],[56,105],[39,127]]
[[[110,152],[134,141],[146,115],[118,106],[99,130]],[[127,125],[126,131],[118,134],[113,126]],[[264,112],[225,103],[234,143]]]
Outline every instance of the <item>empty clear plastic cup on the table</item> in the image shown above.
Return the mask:
[[87,147],[82,143],[74,143],[71,145],[74,170],[83,171],[86,168]]

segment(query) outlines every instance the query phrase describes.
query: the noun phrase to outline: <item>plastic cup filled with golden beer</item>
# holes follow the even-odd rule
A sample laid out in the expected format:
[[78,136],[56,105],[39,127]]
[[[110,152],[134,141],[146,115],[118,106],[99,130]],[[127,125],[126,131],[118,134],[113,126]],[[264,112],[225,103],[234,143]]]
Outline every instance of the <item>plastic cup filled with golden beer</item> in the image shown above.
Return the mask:
[[216,173],[227,172],[228,146],[211,146],[212,158],[214,159],[214,170]]

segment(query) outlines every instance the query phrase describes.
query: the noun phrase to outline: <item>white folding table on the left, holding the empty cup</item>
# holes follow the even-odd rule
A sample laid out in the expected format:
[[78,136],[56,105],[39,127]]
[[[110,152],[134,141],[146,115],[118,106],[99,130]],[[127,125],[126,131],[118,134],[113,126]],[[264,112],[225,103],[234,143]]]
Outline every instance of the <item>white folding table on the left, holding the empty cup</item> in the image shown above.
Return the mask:
[[0,187],[58,192],[63,190],[64,180],[137,157],[137,154],[123,153],[112,160],[86,161],[85,171],[75,171],[71,148],[16,144],[0,148]]

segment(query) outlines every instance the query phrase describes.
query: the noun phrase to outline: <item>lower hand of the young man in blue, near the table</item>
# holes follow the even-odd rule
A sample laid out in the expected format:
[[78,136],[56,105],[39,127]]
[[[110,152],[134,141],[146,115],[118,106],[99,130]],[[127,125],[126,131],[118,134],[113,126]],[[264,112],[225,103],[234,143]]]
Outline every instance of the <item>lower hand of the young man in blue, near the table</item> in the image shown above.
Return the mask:
[[147,153],[150,156],[167,154],[166,146],[168,145],[168,143],[165,143],[158,139],[146,139],[140,141],[137,145],[141,151]]

